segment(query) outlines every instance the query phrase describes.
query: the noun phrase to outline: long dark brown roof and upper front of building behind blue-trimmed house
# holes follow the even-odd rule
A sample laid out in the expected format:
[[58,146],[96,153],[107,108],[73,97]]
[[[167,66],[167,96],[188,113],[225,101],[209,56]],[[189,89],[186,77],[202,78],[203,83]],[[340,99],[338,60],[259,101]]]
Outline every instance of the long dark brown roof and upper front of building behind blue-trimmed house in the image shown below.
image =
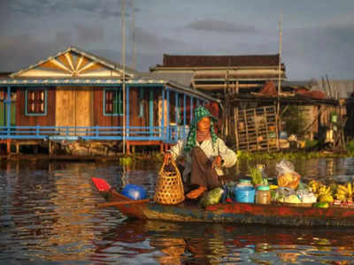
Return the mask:
[[150,72],[192,73],[190,87],[212,95],[230,91],[250,93],[258,91],[266,81],[286,79],[285,65],[279,55],[245,56],[184,56],[164,54],[163,64],[150,67]]

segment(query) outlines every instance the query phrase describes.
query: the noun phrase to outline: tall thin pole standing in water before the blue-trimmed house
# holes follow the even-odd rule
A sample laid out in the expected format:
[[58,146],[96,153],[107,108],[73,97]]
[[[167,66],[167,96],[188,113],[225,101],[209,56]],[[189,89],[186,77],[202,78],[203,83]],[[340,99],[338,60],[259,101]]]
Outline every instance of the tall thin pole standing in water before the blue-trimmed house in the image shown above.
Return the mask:
[[121,0],[122,88],[123,88],[123,154],[126,154],[126,0]]

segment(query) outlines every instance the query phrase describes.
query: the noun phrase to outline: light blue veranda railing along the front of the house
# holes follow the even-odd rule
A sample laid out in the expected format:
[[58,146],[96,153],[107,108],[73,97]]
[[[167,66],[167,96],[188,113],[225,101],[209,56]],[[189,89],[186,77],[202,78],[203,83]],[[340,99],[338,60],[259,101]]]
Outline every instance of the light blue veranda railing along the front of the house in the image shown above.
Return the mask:
[[[121,126],[0,126],[0,139],[49,139],[49,140],[123,140]],[[162,140],[175,143],[188,133],[188,127],[135,127],[125,130],[126,140]]]

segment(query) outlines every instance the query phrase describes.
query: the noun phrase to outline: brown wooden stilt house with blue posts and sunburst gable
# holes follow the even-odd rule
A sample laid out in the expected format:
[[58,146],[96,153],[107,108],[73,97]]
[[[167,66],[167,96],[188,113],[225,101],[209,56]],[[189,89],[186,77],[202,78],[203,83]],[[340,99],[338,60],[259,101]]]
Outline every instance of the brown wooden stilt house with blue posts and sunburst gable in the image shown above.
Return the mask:
[[185,137],[197,105],[219,102],[167,76],[128,68],[123,93],[122,74],[119,64],[71,47],[0,78],[0,139],[125,139],[128,147],[162,149]]

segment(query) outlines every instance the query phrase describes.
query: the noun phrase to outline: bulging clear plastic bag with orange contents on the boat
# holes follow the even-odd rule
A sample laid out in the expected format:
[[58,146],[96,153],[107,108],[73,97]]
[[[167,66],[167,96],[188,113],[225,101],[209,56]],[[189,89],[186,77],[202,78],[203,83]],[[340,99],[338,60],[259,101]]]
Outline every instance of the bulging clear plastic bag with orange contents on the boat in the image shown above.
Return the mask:
[[294,170],[294,164],[283,159],[280,163],[276,164],[275,169],[278,171],[278,186],[289,187],[296,190],[301,177]]

